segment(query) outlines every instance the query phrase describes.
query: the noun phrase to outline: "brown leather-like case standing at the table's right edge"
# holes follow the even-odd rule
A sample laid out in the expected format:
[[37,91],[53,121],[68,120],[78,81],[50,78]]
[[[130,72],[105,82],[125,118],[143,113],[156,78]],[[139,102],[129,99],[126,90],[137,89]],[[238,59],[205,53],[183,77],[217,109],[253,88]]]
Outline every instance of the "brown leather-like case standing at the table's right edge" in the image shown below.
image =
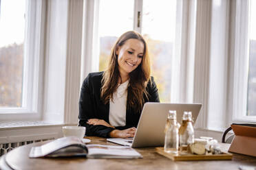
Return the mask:
[[228,151],[249,156],[256,156],[256,125],[255,124],[232,124],[235,138]]

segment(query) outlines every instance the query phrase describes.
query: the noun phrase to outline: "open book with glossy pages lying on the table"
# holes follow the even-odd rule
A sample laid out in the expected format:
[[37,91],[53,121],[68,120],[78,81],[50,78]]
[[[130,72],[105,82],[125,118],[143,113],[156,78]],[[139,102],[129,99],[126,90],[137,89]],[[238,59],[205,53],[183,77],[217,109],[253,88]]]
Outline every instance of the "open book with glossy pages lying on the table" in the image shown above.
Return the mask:
[[76,137],[58,138],[50,143],[30,149],[30,158],[84,156],[86,158],[142,158],[127,146],[86,145]]

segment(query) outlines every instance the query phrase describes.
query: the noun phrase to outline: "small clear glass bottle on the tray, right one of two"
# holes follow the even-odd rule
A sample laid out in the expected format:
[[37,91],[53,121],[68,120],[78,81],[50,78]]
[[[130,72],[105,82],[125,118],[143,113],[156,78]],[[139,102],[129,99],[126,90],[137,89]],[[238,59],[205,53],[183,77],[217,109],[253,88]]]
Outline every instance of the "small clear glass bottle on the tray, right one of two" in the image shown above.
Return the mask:
[[184,112],[182,117],[182,125],[179,129],[180,147],[194,143],[194,129],[192,125],[192,113]]

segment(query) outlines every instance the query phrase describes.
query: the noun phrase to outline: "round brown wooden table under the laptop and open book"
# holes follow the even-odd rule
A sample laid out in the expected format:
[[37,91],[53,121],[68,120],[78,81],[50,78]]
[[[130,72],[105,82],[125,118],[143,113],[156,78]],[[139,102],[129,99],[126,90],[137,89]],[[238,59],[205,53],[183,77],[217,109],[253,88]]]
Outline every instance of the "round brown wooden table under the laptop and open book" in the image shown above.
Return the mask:
[[[93,144],[115,145],[105,138],[87,137]],[[41,143],[17,147],[1,157],[0,169],[239,169],[256,167],[256,158],[234,154],[233,160],[172,161],[156,153],[154,147],[136,149],[142,159],[28,158],[30,148]],[[223,144],[226,150],[229,144]],[[5,167],[6,166],[6,167]]]

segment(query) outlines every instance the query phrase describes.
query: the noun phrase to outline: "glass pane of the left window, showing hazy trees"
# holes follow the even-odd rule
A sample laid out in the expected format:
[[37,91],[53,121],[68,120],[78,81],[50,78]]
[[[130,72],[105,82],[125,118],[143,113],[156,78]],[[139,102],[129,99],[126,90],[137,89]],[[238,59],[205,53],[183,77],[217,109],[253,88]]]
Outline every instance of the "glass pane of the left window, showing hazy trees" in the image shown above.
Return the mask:
[[25,0],[0,3],[0,108],[20,108],[23,106]]

